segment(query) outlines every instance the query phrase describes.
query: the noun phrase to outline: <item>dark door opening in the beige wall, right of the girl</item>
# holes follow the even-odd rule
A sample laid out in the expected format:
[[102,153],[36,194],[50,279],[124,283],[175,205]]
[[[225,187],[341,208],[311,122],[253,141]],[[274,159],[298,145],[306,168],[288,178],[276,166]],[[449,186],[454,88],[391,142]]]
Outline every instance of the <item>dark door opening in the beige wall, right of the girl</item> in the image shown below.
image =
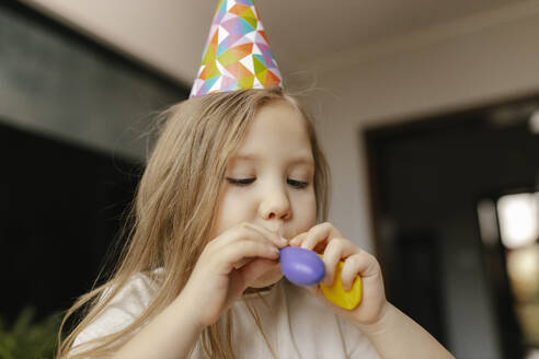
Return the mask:
[[458,358],[525,358],[535,347],[515,314],[505,248],[485,247],[477,210],[537,190],[538,108],[535,96],[362,134],[388,297]]

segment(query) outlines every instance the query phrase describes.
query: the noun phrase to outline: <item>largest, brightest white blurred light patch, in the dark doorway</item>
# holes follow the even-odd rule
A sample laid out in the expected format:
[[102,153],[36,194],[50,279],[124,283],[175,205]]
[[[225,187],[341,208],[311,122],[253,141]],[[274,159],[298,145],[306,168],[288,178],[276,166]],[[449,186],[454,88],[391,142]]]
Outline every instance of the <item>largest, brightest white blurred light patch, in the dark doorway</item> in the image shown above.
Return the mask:
[[507,248],[529,245],[539,236],[538,200],[539,193],[507,195],[497,200],[501,239]]

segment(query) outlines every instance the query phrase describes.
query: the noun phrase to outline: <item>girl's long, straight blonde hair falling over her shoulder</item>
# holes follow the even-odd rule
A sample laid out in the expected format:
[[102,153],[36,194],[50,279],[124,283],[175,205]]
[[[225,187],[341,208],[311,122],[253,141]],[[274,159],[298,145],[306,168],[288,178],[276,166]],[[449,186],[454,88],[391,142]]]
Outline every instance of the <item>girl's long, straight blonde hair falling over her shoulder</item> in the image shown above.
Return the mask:
[[[215,200],[230,157],[240,148],[256,111],[273,101],[286,101],[301,112],[314,158],[317,217],[328,217],[329,167],[312,123],[298,102],[282,89],[245,90],[194,97],[165,111],[158,125],[159,139],[147,162],[129,213],[128,241],[108,280],[81,296],[67,311],[58,333],[57,358],[110,355],[129,334],[169,305],[182,291],[206,245],[215,219]],[[156,268],[164,275],[158,276]],[[74,338],[106,308],[133,276],[144,273],[154,280],[153,300],[140,316],[121,332],[87,343],[69,352]],[[270,346],[259,315],[248,305]],[[81,312],[77,326],[61,339],[66,321]],[[210,358],[234,358],[231,312],[226,313],[226,343],[217,323],[203,332]],[[82,351],[80,350],[82,349]],[[272,350],[271,346],[270,349]],[[273,350],[272,350],[273,352]]]

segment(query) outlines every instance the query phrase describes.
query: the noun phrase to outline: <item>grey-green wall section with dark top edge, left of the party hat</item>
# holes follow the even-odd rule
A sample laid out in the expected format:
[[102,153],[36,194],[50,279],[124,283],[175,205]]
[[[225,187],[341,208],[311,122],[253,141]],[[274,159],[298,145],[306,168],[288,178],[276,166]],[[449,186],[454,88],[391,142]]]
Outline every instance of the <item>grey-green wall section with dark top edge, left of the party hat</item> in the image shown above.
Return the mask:
[[144,159],[156,111],[187,90],[22,5],[0,4],[0,119]]

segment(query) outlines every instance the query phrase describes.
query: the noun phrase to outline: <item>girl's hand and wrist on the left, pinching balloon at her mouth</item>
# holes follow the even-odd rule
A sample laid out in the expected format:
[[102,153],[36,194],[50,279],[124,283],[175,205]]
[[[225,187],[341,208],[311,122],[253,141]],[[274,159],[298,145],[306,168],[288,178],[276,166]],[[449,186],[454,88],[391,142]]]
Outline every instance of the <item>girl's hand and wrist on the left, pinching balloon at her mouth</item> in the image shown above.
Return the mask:
[[252,223],[238,224],[209,241],[176,300],[197,312],[204,327],[217,322],[245,288],[278,266],[279,234]]

